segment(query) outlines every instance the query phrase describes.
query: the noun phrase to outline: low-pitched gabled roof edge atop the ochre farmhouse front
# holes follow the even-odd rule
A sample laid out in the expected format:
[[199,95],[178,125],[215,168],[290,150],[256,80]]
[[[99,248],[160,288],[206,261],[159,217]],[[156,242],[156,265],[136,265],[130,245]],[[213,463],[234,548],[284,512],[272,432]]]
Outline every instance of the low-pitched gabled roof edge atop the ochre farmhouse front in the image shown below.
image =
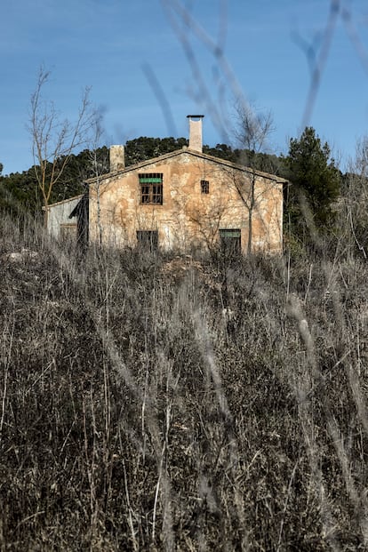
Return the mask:
[[120,171],[107,172],[105,174],[101,174],[98,178],[93,177],[92,179],[85,180],[85,183],[86,184],[93,184],[93,182],[96,182],[96,180],[105,180],[105,179],[112,178],[114,176],[123,175],[123,174],[126,174],[127,172],[136,171],[137,169],[143,169],[148,164],[159,163],[160,161],[165,161],[166,159],[170,159],[170,158],[176,157],[176,156],[181,156],[183,154],[187,154],[187,155],[189,154],[190,156],[199,157],[199,158],[205,159],[207,161],[211,161],[212,163],[217,163],[217,164],[220,164],[220,165],[224,165],[224,166],[227,166],[228,168],[231,168],[231,169],[236,169],[237,171],[249,172],[250,174],[256,174],[257,176],[260,176],[260,177],[268,179],[268,180],[272,180],[274,182],[278,182],[280,184],[284,184],[284,183],[288,182],[288,180],[285,180],[285,179],[283,179],[279,176],[276,176],[275,174],[269,174],[268,172],[261,172],[261,171],[252,170],[250,167],[245,167],[242,164],[232,163],[231,161],[227,161],[226,159],[221,159],[220,157],[209,156],[209,155],[204,154],[202,152],[195,151],[194,149],[182,148],[182,149],[176,149],[175,151],[164,154],[163,156],[158,156],[158,157],[154,157],[152,159],[147,159],[146,161],[141,161],[140,163],[137,163],[137,164],[131,164],[128,167],[125,167],[124,169],[121,169]]

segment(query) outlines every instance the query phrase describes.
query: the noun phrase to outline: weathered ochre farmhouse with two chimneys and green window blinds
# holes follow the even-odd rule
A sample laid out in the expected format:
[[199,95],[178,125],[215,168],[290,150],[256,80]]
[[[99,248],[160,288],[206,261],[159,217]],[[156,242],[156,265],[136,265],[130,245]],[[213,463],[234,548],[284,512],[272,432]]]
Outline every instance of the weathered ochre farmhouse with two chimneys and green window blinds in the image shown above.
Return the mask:
[[139,164],[125,167],[124,147],[112,146],[110,172],[86,181],[69,216],[87,210],[90,243],[247,252],[251,236],[252,251],[281,252],[286,180],[205,155],[203,116],[188,122],[188,147]]

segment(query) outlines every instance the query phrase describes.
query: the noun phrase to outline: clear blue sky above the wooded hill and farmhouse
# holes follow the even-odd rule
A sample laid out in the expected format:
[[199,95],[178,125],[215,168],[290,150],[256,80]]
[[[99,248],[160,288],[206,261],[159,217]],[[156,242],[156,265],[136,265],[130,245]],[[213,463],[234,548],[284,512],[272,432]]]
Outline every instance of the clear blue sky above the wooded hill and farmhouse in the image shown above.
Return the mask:
[[276,154],[309,124],[345,168],[368,133],[366,0],[3,0],[0,27],[4,174],[33,163],[27,122],[40,66],[63,117],[75,118],[92,87],[106,145],[187,136],[193,113],[205,115],[205,143],[231,143],[239,93],[272,113]]

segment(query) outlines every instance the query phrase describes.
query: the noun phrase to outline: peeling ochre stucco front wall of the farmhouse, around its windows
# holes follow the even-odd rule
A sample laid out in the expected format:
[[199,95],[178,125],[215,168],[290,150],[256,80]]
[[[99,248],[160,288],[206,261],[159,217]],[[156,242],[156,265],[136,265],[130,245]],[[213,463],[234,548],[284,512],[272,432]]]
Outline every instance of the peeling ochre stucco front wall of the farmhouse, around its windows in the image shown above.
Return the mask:
[[[141,204],[141,173],[163,174],[163,204]],[[202,193],[201,180],[208,180],[208,194]],[[101,180],[99,187],[90,185],[90,239],[97,241],[100,227],[104,244],[134,247],[137,231],[156,230],[160,247],[186,252],[215,246],[221,228],[238,228],[246,252],[251,182],[252,175],[231,164],[188,150],[140,165]],[[257,176],[252,211],[254,250],[282,249],[282,186]]]

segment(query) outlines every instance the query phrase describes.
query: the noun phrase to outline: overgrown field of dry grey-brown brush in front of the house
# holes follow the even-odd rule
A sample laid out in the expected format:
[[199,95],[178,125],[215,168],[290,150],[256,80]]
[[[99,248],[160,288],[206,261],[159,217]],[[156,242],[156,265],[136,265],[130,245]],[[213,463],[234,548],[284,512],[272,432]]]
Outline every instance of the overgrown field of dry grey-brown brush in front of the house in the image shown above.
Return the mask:
[[2,549],[366,549],[365,264],[1,236]]

